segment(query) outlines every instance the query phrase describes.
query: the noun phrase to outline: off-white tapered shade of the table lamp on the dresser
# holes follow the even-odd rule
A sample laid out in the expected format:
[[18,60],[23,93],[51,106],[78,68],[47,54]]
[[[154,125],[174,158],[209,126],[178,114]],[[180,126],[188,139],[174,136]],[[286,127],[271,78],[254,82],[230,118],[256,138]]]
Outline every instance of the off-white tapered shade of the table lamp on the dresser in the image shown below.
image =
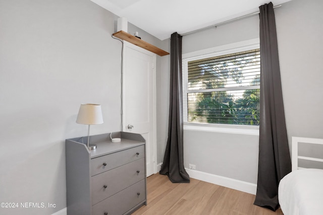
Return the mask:
[[81,104],[76,123],[85,125],[96,125],[103,123],[101,105]]

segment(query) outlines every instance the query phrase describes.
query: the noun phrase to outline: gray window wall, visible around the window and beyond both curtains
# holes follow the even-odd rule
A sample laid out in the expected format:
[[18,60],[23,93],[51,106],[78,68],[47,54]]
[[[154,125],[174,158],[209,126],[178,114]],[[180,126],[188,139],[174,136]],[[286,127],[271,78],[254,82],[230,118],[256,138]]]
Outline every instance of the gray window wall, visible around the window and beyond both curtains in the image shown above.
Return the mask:
[[[293,0],[275,9],[281,76],[289,143],[291,136],[323,138],[323,15],[319,0]],[[253,16],[183,37],[183,53],[259,37]],[[170,41],[164,40],[169,47]],[[168,57],[169,58],[169,57]],[[167,59],[163,59],[167,61]],[[169,59],[168,59],[169,60]],[[169,67],[161,67],[159,95],[169,94]],[[160,115],[168,115],[167,98],[159,98]],[[306,110],[305,110],[306,109]],[[158,109],[157,109],[158,113]],[[159,114],[158,113],[158,114]],[[167,120],[159,117],[159,149],[165,149]],[[159,152],[158,162],[163,161]],[[257,181],[258,136],[184,130],[184,165],[250,183]]]

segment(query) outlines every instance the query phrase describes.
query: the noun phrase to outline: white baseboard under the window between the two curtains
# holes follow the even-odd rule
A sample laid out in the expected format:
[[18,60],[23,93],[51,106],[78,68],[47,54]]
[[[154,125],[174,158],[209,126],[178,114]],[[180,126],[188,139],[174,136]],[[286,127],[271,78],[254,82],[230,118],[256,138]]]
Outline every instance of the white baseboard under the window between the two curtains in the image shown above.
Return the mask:
[[200,172],[185,168],[191,178],[201,181],[217,184],[231,189],[239,190],[246,193],[256,194],[257,185],[245,181],[240,181],[232,178],[227,178],[219,175],[213,175],[205,172]]

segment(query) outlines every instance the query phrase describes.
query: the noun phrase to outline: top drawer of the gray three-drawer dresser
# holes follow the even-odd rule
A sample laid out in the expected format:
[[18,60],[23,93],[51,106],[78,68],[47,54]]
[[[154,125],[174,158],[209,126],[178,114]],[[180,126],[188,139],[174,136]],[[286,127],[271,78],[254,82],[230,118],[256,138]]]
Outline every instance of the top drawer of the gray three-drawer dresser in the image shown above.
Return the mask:
[[144,146],[91,159],[91,176],[145,157]]

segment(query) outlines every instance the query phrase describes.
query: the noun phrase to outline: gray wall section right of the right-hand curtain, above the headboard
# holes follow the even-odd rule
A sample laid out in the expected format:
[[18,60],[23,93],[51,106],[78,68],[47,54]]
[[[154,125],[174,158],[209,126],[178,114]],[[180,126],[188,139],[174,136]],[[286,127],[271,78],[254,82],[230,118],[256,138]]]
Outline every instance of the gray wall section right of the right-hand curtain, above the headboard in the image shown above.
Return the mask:
[[323,138],[323,1],[293,0],[276,11],[287,131]]

